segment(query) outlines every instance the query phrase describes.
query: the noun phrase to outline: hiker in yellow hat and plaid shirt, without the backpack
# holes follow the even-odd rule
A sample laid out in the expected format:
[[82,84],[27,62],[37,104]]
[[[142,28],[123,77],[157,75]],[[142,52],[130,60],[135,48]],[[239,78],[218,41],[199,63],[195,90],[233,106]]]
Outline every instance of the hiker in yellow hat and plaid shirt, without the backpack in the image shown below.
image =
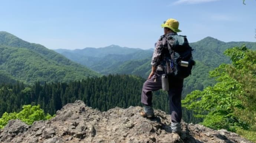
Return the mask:
[[[167,37],[171,35],[177,35],[177,32],[181,32],[178,29],[179,22],[175,19],[168,19],[161,25],[164,28],[164,35],[155,44],[154,53],[152,56],[152,71],[148,76],[142,87],[141,102],[144,105],[144,111],[140,113],[143,117],[151,118],[154,116],[154,110],[152,108],[152,91],[157,91],[162,88],[161,75],[164,74],[163,67],[166,62],[163,58],[164,53],[168,54],[168,44],[173,46],[175,41],[167,41]],[[160,70],[158,70],[160,69]],[[183,88],[183,78],[175,76],[168,76],[168,95],[169,106],[171,114],[171,129],[173,133],[181,133],[181,92]]]

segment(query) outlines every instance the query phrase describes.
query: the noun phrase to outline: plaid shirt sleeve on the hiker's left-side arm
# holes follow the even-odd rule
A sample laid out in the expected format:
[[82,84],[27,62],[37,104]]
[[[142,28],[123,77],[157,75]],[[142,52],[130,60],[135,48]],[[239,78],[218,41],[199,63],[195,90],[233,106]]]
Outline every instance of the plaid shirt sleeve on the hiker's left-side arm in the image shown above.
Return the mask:
[[159,39],[155,44],[155,50],[154,50],[152,61],[151,61],[152,66],[158,66],[160,64],[162,50],[163,50],[163,41]]

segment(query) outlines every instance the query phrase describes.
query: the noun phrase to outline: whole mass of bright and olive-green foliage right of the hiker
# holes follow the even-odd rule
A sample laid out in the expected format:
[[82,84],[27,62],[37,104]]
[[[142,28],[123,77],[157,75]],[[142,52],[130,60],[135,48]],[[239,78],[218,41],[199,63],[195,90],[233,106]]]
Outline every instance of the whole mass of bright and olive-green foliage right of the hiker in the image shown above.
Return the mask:
[[255,129],[256,123],[256,52],[246,46],[224,52],[232,64],[221,64],[210,72],[217,83],[203,91],[193,91],[182,101],[184,107],[203,117],[203,125],[213,129]]

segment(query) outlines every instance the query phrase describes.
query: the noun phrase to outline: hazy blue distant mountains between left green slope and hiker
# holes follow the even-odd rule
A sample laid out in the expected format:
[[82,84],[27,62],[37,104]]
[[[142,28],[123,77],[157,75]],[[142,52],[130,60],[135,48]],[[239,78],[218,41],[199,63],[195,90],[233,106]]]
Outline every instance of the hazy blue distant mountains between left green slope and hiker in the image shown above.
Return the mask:
[[[110,45],[104,48],[84,48],[76,50],[57,49],[56,52],[70,60],[90,67],[99,73],[109,74],[124,61],[145,59],[152,55],[152,49],[120,47]],[[111,70],[111,71],[109,71]]]

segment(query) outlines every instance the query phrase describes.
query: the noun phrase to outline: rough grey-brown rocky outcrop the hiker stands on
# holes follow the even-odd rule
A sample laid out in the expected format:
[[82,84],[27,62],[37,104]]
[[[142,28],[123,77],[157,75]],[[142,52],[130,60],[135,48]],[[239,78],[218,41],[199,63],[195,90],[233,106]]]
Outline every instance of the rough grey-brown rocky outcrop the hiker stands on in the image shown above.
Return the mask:
[[181,135],[171,132],[170,115],[155,110],[156,117],[140,116],[141,107],[114,108],[106,112],[75,101],[57,111],[49,121],[26,125],[9,121],[0,130],[0,142],[15,143],[249,143],[236,133],[212,130],[202,125],[182,122]]

